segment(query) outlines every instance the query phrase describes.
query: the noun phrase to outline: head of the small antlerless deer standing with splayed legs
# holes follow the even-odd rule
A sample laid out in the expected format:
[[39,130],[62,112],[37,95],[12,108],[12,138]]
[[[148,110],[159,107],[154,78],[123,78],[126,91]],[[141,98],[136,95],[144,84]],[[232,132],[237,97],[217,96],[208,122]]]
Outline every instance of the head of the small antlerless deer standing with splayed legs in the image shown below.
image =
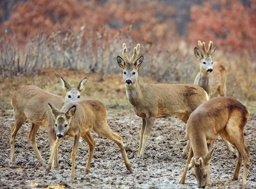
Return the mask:
[[55,119],[55,132],[58,138],[62,138],[66,135],[68,129],[70,128],[70,122],[72,116],[76,112],[76,105],[71,106],[66,112],[60,112],[55,107],[51,106],[49,103],[49,108],[52,111],[52,115]]

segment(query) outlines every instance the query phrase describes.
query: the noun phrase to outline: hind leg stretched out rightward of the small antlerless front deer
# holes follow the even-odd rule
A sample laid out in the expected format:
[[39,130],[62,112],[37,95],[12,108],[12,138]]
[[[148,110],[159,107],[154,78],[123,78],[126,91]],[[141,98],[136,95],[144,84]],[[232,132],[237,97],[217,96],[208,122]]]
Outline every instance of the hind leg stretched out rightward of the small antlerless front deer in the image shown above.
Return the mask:
[[125,166],[126,169],[128,169],[128,171],[132,172],[131,169],[131,163],[128,160],[127,154],[125,152],[125,145],[122,142],[122,137],[120,137],[119,135],[117,135],[116,133],[114,133],[110,127],[108,126],[108,123],[103,123],[102,125],[97,125],[97,127],[93,127],[93,130],[100,136],[100,137],[106,137],[109,140],[112,140],[114,143],[116,143],[121,152],[122,152],[122,156],[124,158],[125,161]]

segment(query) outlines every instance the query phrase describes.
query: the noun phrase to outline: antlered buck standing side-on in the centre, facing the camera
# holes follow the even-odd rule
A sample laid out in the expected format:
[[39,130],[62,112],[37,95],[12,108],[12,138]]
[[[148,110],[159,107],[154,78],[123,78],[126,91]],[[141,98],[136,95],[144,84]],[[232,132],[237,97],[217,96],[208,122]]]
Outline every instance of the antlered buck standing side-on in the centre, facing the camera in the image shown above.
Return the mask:
[[123,70],[127,97],[136,115],[142,117],[138,155],[143,155],[145,143],[154,126],[155,119],[176,115],[186,123],[189,115],[201,103],[208,100],[208,95],[201,87],[189,84],[140,84],[138,68],[143,62],[143,56],[135,60],[139,51],[140,44],[134,48],[134,54],[129,60],[124,43],[122,48],[124,60],[117,56],[117,63]]

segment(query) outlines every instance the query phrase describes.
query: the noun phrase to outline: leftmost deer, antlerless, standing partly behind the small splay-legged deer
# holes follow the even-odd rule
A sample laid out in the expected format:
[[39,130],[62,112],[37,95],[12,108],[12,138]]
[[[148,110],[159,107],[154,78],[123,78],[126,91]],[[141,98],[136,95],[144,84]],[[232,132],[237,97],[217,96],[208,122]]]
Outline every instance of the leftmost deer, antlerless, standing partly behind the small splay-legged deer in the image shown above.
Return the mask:
[[[29,132],[29,140],[38,157],[40,164],[46,167],[43,158],[38,151],[35,143],[35,135],[40,126],[43,126],[48,131],[49,142],[52,149],[53,143],[56,139],[54,132],[54,119],[52,113],[48,108],[48,103],[53,106],[61,108],[64,103],[69,103],[80,99],[80,92],[85,89],[87,78],[85,77],[76,86],[70,84],[61,77],[63,88],[67,91],[65,100],[55,94],[47,92],[38,88],[37,86],[27,85],[18,89],[12,96],[11,104],[14,110],[15,124],[12,128],[10,139],[11,144],[11,163],[15,163],[15,137],[18,130],[23,123],[28,119],[32,122],[32,127]],[[52,164],[54,166],[54,163]],[[55,155],[55,168],[58,168],[58,154]]]

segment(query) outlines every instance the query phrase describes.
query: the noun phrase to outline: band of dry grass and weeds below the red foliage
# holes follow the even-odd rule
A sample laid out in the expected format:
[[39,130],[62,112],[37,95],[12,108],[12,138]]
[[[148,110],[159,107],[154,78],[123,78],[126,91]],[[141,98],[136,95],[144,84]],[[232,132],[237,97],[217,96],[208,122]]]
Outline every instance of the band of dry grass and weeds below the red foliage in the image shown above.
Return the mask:
[[[66,76],[68,80],[72,78],[78,82],[83,78],[84,74],[81,73],[95,73],[92,77],[88,76],[88,86],[92,80],[95,81],[95,88],[87,88],[85,92],[89,97],[103,97],[106,101],[127,99],[116,56],[122,54],[123,42],[128,46],[128,56],[133,53],[136,43],[129,36],[122,40],[119,34],[108,36],[107,31],[96,35],[94,39],[84,40],[81,36],[82,34],[67,34],[63,38],[57,33],[48,38],[37,37],[23,50],[15,47],[15,40],[0,41],[0,108],[10,108],[9,100],[7,104],[4,98],[6,95],[10,98],[15,90],[25,84],[34,84],[63,96],[56,76]],[[188,48],[182,40],[169,43],[167,47],[142,43],[140,49],[144,61],[139,75],[140,78],[150,78],[150,83],[193,83],[199,72],[193,47]],[[256,63],[253,55],[246,52],[225,54],[217,49],[213,60],[221,61],[227,69],[227,96],[244,102],[256,100]],[[49,71],[50,69],[54,71]],[[116,77],[115,74],[119,76]],[[146,83],[143,80],[140,82]],[[58,85],[53,86],[54,89],[49,89],[56,83]],[[111,83],[113,86],[108,88]],[[122,94],[119,95],[118,91],[122,91]]]

